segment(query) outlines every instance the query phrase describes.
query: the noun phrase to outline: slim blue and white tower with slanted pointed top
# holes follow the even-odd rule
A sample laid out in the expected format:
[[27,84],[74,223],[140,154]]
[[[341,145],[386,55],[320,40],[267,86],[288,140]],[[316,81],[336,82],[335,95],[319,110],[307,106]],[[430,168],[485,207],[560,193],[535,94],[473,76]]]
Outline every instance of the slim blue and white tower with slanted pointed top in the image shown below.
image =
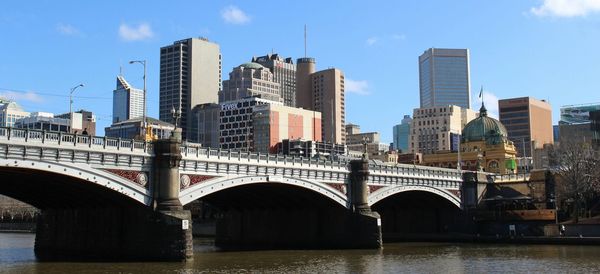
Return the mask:
[[133,88],[123,76],[117,76],[113,91],[113,123],[144,116],[144,91]]

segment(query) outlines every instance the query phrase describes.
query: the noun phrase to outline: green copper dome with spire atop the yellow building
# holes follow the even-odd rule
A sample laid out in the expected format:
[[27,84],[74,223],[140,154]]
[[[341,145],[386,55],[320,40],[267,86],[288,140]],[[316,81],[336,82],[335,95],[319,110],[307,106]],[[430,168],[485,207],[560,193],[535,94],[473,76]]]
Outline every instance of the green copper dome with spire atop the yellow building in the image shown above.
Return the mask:
[[479,110],[479,117],[467,123],[462,132],[463,142],[485,140],[488,144],[499,144],[507,137],[508,132],[504,125],[500,121],[488,117],[483,104]]

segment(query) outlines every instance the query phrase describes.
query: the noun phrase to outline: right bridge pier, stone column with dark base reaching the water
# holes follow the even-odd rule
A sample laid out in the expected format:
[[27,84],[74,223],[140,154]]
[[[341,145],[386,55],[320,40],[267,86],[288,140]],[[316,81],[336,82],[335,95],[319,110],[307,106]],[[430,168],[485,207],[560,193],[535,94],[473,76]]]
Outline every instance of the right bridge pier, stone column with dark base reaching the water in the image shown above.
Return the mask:
[[349,233],[347,240],[351,248],[381,248],[381,218],[371,210],[368,203],[369,162],[368,159],[350,161]]

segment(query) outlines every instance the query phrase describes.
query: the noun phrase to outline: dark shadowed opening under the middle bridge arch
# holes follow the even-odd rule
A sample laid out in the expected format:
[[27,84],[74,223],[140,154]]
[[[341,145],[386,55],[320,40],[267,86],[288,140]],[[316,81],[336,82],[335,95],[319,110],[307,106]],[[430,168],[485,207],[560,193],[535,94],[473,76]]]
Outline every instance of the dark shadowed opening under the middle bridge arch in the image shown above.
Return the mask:
[[325,248],[346,236],[346,208],[300,187],[252,184],[202,201],[220,210],[215,243],[223,248]]

